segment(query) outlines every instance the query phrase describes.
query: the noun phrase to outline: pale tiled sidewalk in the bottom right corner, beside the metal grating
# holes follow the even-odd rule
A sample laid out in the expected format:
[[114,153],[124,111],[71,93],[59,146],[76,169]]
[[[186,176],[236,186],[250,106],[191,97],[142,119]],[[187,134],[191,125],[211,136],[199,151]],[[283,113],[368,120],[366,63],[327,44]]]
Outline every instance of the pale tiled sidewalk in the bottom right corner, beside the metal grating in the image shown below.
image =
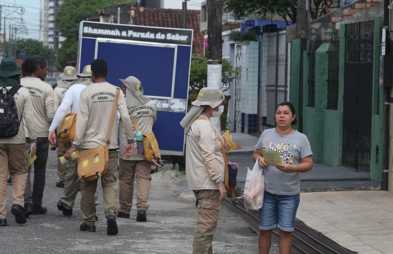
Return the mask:
[[393,254],[393,193],[301,193],[296,217],[359,254]]

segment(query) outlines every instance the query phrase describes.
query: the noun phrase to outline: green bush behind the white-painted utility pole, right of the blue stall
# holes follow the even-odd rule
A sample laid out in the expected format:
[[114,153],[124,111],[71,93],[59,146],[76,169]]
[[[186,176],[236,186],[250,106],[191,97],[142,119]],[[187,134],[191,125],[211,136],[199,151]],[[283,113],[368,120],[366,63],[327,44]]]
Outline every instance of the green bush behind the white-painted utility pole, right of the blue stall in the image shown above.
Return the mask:
[[[228,60],[223,59],[223,73],[221,79],[221,90],[229,89],[231,83],[236,75],[240,73],[240,68],[230,64]],[[191,57],[190,70],[190,94],[197,94],[197,92],[207,85],[207,60],[204,56],[193,54]]]

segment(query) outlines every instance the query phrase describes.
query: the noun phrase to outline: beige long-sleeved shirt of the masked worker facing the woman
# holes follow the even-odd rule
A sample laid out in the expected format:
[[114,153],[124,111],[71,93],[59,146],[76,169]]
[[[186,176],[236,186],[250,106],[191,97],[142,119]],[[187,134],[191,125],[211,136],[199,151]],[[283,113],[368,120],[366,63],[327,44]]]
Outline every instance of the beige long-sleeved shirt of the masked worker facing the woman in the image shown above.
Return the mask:
[[218,132],[210,119],[196,120],[187,133],[186,177],[192,190],[218,190],[216,180],[224,177],[225,161]]

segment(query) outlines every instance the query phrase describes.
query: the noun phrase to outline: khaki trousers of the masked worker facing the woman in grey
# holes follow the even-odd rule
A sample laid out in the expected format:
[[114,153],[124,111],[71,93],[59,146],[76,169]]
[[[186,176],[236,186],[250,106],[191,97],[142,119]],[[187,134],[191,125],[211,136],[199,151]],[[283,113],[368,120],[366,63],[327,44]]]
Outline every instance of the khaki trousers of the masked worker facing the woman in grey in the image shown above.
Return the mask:
[[220,212],[219,190],[194,190],[197,206],[197,227],[194,233],[193,254],[213,254],[212,242]]

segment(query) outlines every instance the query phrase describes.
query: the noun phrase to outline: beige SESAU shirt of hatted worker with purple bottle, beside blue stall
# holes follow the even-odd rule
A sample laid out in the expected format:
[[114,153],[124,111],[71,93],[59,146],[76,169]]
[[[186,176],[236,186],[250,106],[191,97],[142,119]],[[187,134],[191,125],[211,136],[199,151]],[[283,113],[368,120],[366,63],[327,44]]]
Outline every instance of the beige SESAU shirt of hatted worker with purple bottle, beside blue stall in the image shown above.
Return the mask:
[[[157,109],[156,106],[154,105],[153,101],[149,101],[141,106],[138,107],[133,107],[129,109],[129,112],[132,113],[132,116],[134,117],[134,120],[139,124],[140,131],[142,134],[144,133],[149,133],[153,129],[153,124],[156,122],[157,119]],[[131,119],[131,116],[130,116]],[[121,120],[120,120],[121,122]],[[136,130],[134,123],[131,121],[133,124],[133,131],[134,131],[134,137],[136,137]],[[123,153],[124,148],[127,145],[127,139],[126,139],[126,133],[124,131],[123,126],[120,125],[120,153],[119,153],[119,158],[126,160],[126,157]],[[137,141],[134,141],[134,152],[133,154],[127,159],[129,161],[141,161],[141,160],[146,160],[144,157],[143,153],[138,153],[138,146],[137,146]]]

